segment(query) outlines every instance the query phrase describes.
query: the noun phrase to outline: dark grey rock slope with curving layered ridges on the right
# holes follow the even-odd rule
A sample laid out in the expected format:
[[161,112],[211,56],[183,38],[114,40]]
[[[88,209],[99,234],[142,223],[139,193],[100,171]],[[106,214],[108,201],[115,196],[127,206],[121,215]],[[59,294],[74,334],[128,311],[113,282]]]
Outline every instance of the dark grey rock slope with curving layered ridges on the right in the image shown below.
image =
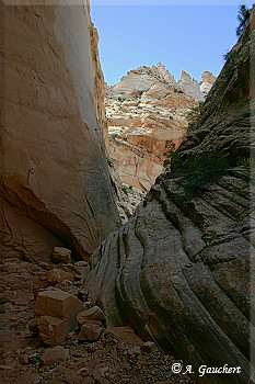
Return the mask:
[[[224,174],[194,196],[175,173],[160,176],[129,222],[94,252],[86,279],[89,300],[104,309],[108,325],[131,323],[144,339],[192,364],[197,383],[247,383],[250,348],[254,353],[254,206],[248,171],[239,166],[250,156],[255,126],[248,55],[255,54],[255,31],[248,32],[178,149],[182,167],[199,154],[225,156],[232,162]],[[224,364],[241,373],[199,375],[200,365]]]

